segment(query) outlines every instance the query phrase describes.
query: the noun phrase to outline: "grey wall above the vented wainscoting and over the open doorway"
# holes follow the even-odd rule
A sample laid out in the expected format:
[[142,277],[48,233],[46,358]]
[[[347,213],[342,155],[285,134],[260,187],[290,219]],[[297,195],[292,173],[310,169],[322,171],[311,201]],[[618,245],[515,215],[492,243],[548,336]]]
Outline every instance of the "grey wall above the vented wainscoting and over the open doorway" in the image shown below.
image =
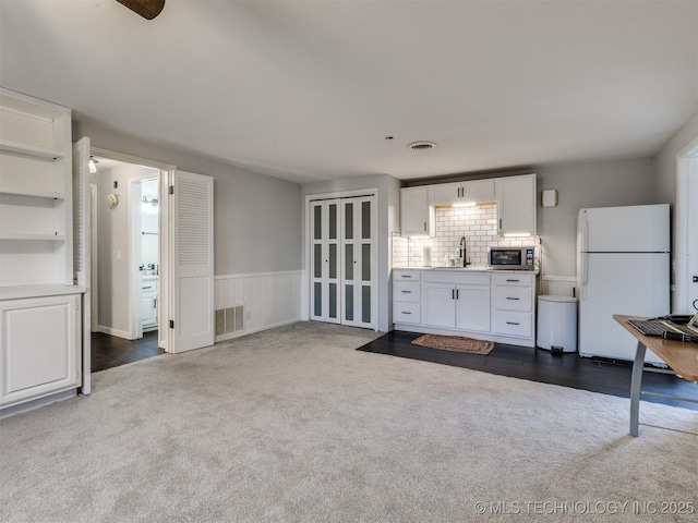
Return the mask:
[[[73,114],[73,141],[214,178],[215,273],[301,268],[301,186],[240,167],[119,133]],[[164,141],[167,136],[163,137]]]

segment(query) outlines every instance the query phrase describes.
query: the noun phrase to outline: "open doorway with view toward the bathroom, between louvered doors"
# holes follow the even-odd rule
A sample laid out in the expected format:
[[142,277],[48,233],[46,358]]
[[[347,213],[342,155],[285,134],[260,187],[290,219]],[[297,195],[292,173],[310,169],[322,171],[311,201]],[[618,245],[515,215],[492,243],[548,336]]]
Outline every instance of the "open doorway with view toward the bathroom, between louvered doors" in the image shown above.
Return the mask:
[[96,147],[91,159],[92,352],[117,351],[111,358],[117,365],[122,353],[132,353],[133,361],[167,350],[159,328],[167,309],[160,300],[167,292],[167,238],[161,234],[167,214],[160,193],[168,185],[169,166]]

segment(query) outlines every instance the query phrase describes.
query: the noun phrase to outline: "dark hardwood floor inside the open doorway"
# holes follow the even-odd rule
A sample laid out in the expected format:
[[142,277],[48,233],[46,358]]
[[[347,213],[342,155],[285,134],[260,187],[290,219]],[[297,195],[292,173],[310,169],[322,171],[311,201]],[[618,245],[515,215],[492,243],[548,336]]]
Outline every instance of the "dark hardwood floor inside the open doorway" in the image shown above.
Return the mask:
[[157,346],[157,330],[145,332],[140,340],[124,340],[101,332],[92,333],[93,373],[164,353],[165,351]]

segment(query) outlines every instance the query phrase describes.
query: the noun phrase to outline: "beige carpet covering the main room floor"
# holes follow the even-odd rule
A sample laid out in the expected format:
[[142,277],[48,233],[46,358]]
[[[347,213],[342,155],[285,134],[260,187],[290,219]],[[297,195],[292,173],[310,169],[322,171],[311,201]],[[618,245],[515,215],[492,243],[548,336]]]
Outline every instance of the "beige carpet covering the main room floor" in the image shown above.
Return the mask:
[[[695,521],[698,414],[354,351],[296,324],[0,421],[2,522]],[[654,503],[654,504],[651,504]],[[666,506],[678,510],[678,506]],[[482,513],[481,513],[482,512]]]

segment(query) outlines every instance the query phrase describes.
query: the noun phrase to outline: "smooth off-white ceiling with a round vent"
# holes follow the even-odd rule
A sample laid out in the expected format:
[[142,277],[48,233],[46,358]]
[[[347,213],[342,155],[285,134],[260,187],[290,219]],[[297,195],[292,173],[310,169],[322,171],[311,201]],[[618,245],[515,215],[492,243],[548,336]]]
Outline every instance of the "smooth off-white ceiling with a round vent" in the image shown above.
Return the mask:
[[698,0],[0,0],[0,85],[299,183],[647,158],[698,112]]

